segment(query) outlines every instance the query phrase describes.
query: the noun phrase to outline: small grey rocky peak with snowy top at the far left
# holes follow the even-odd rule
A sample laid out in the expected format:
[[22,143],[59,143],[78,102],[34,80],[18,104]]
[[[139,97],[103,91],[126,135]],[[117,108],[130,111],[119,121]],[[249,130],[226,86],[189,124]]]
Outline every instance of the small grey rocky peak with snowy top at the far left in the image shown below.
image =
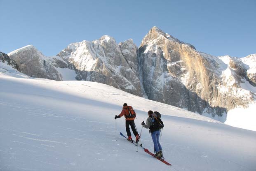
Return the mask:
[[17,49],[8,55],[19,65],[21,72],[28,76],[62,80],[59,72],[47,61],[47,57],[32,45]]

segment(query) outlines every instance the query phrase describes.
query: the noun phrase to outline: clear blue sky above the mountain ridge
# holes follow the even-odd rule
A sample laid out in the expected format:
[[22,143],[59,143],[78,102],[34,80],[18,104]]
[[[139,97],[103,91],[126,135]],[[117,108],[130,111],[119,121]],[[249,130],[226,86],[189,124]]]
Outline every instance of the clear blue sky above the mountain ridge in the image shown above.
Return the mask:
[[211,55],[256,53],[256,0],[0,0],[0,51],[56,55],[103,35],[139,46],[153,26]]

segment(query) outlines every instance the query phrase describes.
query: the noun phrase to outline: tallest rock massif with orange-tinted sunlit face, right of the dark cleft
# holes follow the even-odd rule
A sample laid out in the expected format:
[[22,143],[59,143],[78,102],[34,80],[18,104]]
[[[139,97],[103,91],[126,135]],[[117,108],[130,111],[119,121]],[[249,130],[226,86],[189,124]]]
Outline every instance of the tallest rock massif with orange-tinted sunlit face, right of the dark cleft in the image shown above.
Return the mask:
[[[222,116],[226,110],[246,107],[248,101],[253,101],[250,92],[242,100],[238,95],[240,80],[247,73],[240,60],[231,59],[225,64],[156,27],[141,42],[139,61],[149,99],[212,116]],[[228,78],[223,75],[224,65],[231,73]]]

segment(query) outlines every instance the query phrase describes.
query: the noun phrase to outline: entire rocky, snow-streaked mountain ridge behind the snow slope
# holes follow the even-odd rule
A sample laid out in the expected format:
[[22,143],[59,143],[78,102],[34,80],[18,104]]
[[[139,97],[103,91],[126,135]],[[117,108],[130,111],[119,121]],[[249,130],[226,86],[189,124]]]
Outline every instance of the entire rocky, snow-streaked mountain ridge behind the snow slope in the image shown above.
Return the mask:
[[255,101],[256,54],[215,57],[157,27],[150,29],[139,48],[132,39],[117,44],[113,37],[103,36],[69,44],[51,58],[34,47],[25,49],[8,55],[29,76],[62,81],[59,68],[69,69],[77,80],[105,83],[223,120],[229,110]]

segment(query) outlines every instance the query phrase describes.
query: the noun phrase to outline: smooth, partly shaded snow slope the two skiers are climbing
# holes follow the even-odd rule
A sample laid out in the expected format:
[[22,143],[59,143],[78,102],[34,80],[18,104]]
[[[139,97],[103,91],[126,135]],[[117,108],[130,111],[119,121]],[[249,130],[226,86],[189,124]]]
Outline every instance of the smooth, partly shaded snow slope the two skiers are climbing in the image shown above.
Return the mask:
[[[136,152],[118,132],[122,104],[137,113],[162,113],[160,143],[167,166]],[[256,132],[225,125],[183,109],[143,99],[101,83],[22,79],[0,73],[2,171],[255,171]],[[134,136],[133,136],[134,137]],[[148,129],[141,141],[153,152]]]

